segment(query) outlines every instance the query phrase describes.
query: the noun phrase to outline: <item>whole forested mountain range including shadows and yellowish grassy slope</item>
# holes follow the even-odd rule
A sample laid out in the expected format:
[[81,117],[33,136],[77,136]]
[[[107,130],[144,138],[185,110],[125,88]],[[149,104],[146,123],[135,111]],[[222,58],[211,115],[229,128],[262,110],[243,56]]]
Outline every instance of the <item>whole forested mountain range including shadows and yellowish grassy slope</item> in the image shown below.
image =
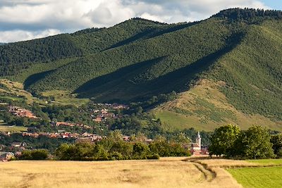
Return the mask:
[[168,127],[282,129],[282,13],[232,8],[195,23],[133,18],[109,28],[0,46],[0,76],[36,96],[63,90],[130,102],[172,91],[152,111]]

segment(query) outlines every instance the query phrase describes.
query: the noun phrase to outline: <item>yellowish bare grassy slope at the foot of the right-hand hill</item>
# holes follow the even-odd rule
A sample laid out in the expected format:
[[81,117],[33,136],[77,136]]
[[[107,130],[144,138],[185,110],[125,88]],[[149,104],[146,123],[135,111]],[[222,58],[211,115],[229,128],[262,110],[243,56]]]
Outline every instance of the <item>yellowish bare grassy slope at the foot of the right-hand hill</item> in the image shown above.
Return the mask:
[[273,121],[262,115],[247,115],[229,104],[220,91],[224,82],[203,79],[188,92],[153,110],[157,118],[166,124],[168,130],[195,127],[198,130],[213,131],[229,123],[247,130],[251,125],[263,125],[272,130],[282,130],[281,121]]

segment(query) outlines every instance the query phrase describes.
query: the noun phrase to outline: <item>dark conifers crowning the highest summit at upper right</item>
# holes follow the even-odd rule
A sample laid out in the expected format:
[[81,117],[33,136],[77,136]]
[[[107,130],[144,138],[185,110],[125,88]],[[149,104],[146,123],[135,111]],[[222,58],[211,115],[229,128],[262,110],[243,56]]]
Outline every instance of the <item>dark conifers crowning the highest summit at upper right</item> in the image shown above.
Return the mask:
[[216,18],[228,18],[231,20],[254,20],[255,18],[282,18],[282,11],[272,11],[264,9],[254,8],[230,8],[220,11],[213,17]]

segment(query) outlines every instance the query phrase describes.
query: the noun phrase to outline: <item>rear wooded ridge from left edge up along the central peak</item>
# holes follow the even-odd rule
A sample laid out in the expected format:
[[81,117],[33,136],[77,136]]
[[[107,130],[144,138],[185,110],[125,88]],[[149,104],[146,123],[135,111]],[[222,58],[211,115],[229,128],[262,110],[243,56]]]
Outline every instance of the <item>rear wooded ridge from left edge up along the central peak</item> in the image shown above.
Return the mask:
[[162,26],[164,24],[149,20],[132,19],[108,29],[92,28],[71,35],[0,45],[0,76],[16,75],[34,63],[98,53],[125,39]]

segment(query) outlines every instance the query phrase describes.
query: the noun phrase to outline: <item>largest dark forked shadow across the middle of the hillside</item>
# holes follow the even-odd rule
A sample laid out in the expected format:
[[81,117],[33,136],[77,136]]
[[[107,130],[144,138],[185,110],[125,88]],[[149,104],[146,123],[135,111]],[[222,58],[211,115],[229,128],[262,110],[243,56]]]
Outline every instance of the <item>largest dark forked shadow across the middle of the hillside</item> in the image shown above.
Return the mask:
[[137,83],[132,81],[136,75],[144,73],[146,68],[162,61],[165,57],[130,65],[114,73],[94,78],[76,89],[75,93],[78,93],[79,98],[93,97],[94,101],[99,102],[128,102],[140,101],[172,91],[187,91],[190,85],[195,83],[202,73],[209,70],[218,58],[240,43],[241,36],[242,34],[234,35],[226,42],[227,46],[223,49],[154,80],[143,80]]

